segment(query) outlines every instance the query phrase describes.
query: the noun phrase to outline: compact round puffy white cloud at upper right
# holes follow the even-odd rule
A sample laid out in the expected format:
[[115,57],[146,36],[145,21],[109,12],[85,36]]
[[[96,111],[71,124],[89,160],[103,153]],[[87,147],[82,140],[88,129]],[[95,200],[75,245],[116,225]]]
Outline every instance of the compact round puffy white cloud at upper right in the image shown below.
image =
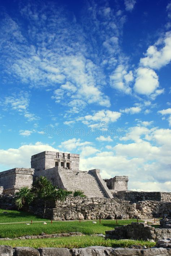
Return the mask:
[[136,71],[134,90],[139,94],[150,95],[159,86],[158,76],[154,70],[149,68],[138,68]]

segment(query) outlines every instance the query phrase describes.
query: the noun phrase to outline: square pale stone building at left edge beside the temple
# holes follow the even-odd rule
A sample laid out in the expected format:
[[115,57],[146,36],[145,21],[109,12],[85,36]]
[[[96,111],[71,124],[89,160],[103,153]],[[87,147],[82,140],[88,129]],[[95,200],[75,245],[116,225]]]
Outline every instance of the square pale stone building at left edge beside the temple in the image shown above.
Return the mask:
[[13,168],[0,172],[0,186],[4,187],[3,193],[9,191],[14,194],[21,187],[30,187],[33,182],[33,174],[34,169],[31,168]]

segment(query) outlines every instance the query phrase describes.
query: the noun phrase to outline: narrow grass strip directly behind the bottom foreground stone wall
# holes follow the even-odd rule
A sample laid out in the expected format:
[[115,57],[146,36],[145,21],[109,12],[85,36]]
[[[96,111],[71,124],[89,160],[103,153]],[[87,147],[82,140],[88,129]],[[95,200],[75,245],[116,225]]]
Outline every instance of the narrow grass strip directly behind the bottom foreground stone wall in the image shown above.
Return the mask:
[[138,240],[105,240],[96,236],[77,236],[77,237],[60,237],[47,239],[26,239],[26,240],[0,240],[0,245],[8,245],[12,247],[28,246],[34,248],[40,247],[65,247],[80,248],[88,246],[109,246],[109,247],[129,247],[132,244],[152,247],[155,243]]

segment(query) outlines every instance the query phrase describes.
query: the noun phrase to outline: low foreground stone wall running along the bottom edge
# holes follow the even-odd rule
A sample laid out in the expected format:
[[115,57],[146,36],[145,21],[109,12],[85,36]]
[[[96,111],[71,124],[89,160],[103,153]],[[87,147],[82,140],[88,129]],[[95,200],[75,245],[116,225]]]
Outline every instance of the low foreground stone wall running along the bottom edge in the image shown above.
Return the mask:
[[103,246],[91,246],[86,248],[39,248],[0,246],[0,255],[3,256],[169,256],[171,248],[111,248]]

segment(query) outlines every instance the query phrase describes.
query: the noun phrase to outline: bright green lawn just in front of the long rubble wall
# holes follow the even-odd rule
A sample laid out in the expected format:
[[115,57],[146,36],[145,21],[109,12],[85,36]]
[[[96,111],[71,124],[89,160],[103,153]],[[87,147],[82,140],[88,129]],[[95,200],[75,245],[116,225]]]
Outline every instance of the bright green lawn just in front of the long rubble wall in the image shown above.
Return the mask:
[[[3,213],[4,211],[8,213]],[[0,210],[0,223],[7,222],[22,222],[27,221],[47,221],[47,219],[41,219],[37,216],[30,215],[27,212],[22,211],[12,211],[12,210]],[[130,220],[118,220],[116,225],[116,220],[101,220],[101,224],[97,221],[93,224],[92,221],[58,221],[58,222],[47,222],[47,225],[40,223],[32,223],[32,225],[26,225],[25,223],[16,224],[0,224],[0,237],[17,238],[23,235],[39,235],[41,232],[46,234],[56,234],[56,233],[67,233],[67,232],[82,232],[86,235],[91,234],[105,234],[106,230],[112,230],[116,226],[129,224],[136,219]]]

